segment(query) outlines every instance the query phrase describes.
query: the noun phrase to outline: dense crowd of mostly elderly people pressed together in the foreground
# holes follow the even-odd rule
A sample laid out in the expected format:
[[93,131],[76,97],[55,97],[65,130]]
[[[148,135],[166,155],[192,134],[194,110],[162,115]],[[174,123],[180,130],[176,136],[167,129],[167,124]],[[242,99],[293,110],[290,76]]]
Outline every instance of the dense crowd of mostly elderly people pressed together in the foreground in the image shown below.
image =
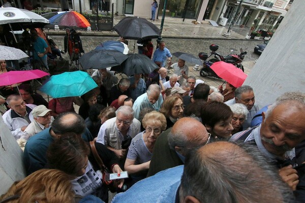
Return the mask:
[[93,141],[111,173],[129,174],[114,181],[112,202],[303,202],[305,94],[287,92],[259,108],[251,86],[211,87],[190,76],[186,61],[171,58],[161,41],[152,58],[159,69],[120,80],[97,70],[92,78],[98,87],[81,97],[47,103],[30,84],[2,95],[4,122],[20,146],[26,143],[28,177],[0,201],[31,196],[40,202],[52,181],[37,188],[41,196],[15,188],[31,187],[35,177],[60,176],[58,187],[68,188],[63,194],[70,199],[63,201],[107,202]]

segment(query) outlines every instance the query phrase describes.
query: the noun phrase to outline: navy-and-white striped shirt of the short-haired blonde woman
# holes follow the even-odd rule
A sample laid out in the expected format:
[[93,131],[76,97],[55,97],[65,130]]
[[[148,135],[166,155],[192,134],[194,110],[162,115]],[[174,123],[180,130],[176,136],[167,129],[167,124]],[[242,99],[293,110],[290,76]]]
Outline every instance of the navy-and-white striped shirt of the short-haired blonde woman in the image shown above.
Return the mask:
[[150,161],[151,157],[153,156],[153,153],[149,152],[144,143],[144,132],[145,130],[137,134],[137,136],[132,139],[131,144],[129,146],[127,158],[131,160],[136,160],[135,165]]

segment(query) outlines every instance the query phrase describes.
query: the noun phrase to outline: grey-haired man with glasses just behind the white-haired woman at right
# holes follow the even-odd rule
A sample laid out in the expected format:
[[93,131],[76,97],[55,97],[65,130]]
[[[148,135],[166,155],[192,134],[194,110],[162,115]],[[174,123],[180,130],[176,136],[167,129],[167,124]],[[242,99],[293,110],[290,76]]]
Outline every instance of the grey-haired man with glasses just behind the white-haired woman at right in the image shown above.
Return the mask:
[[225,102],[226,105],[243,104],[247,107],[249,114],[247,120],[242,124],[243,129],[251,126],[251,120],[259,111],[259,107],[255,104],[255,96],[252,87],[243,85],[235,90],[235,98]]

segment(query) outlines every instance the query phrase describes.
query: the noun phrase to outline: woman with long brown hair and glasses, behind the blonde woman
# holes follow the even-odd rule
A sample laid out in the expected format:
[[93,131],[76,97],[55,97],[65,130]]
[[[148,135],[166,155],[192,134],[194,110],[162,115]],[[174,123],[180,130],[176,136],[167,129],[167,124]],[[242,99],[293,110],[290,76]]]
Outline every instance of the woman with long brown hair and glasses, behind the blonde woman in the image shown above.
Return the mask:
[[184,108],[181,96],[171,95],[166,97],[160,108],[160,113],[166,117],[166,129],[172,127],[179,118],[183,117]]

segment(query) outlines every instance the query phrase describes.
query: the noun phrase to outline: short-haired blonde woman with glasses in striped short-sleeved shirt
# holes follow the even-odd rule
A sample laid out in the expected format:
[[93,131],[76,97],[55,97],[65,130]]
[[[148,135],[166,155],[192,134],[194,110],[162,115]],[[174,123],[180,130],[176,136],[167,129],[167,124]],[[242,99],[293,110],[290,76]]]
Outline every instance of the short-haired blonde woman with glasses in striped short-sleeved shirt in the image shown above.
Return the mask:
[[125,170],[133,183],[146,177],[156,140],[166,128],[166,119],[163,114],[152,111],[144,116],[142,124],[145,130],[132,139],[125,162]]

